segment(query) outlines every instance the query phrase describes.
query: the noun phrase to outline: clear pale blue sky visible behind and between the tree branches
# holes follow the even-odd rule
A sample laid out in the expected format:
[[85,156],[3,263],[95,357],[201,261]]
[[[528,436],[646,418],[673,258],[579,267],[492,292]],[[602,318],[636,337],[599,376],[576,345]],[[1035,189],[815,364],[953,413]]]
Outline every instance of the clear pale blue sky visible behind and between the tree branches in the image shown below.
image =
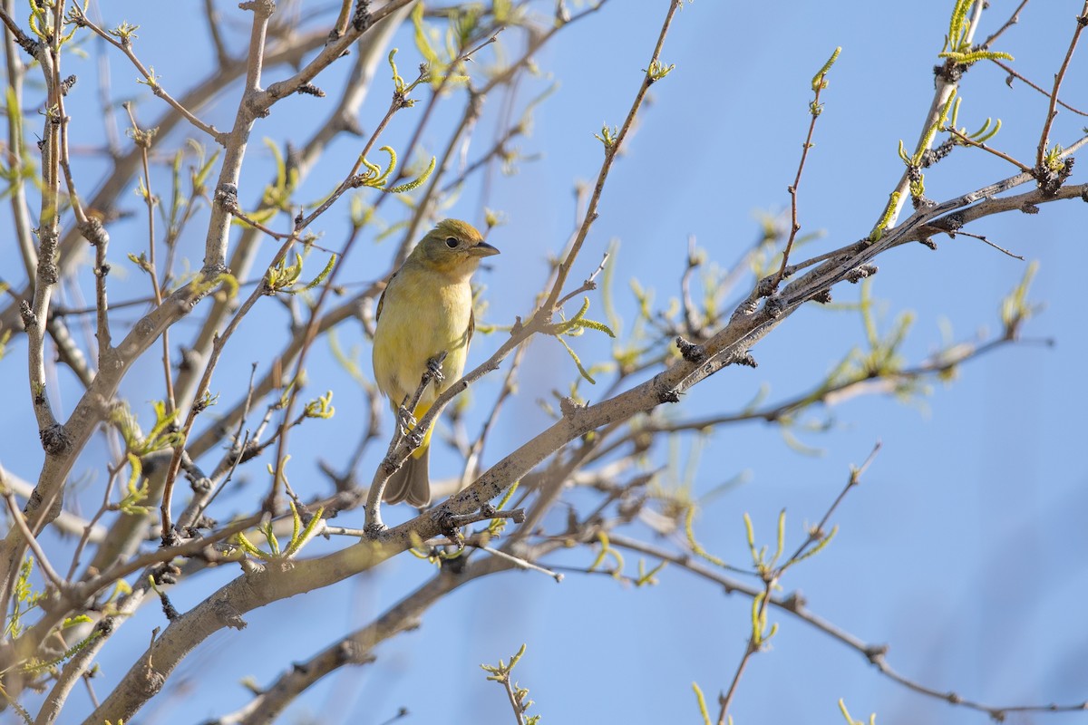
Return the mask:
[[[523,163],[517,175],[497,176],[486,201],[507,217],[507,224],[489,238],[503,254],[495,258],[492,270],[479,275],[490,303],[486,322],[508,324],[512,315],[530,310],[546,273],[546,257],[570,232],[572,186],[596,174],[601,145],[593,134],[603,123],[621,123],[666,4],[613,0],[560,33],[537,57],[541,70],[560,85],[540,107],[532,136],[520,141],[527,155],[543,157]],[[1002,24],[1016,4],[991,2],[981,34]],[[1049,85],[1080,4],[1056,0],[1029,4],[996,49],[1012,53],[1021,73]],[[696,0],[685,5],[663,52],[676,70],[653,88],[653,103],[609,177],[601,217],[573,278],[588,274],[611,240],[618,240],[613,274],[617,304],[630,324],[633,299],[628,282],[635,278],[653,288],[664,307],[679,291],[689,236],[712,261],[732,264],[758,234],[757,214],[780,212],[789,203],[786,187],[793,178],[808,122],[808,84],[838,46],[842,54],[823,98],[816,146],[800,189],[803,228],[820,230],[824,237],[805,251],[818,253],[866,236],[902,173],[898,142],[913,145],[928,110],[931,67],[938,63],[951,5],[950,0],[910,7],[861,0],[794,0],[772,7]],[[240,49],[248,17],[230,3],[220,10],[232,47]],[[178,17],[181,10],[108,3],[101,12],[107,25],[121,20],[140,23],[137,52],[156,66],[168,88],[184,87],[193,66],[206,62],[201,26],[178,25],[189,22]],[[195,38],[196,50],[177,52],[182,33]],[[410,36],[403,33],[395,45],[400,62],[411,67],[416,50]],[[92,59],[97,50],[88,50]],[[1077,96],[1084,88],[1081,57],[1074,57],[1065,88],[1071,103],[1088,107],[1088,99]],[[111,63],[113,92],[140,98],[140,117],[153,117],[156,102],[145,87],[132,83],[135,72],[121,58],[113,57]],[[88,83],[83,95],[74,97],[74,116],[96,112],[89,83],[94,68],[94,60],[88,60],[78,71]],[[286,73],[275,68],[269,77]],[[327,88],[337,89],[338,77],[331,73]],[[384,72],[380,77],[385,80]],[[1000,68],[986,64],[967,74],[961,90],[962,125],[974,128],[986,117],[1000,117],[1003,126],[994,145],[1030,158],[1046,99],[1019,83],[1009,88],[1004,80]],[[536,90],[527,86],[522,100],[549,79],[535,83]],[[366,128],[380,117],[385,98],[375,89],[362,112]],[[228,125],[231,102],[233,97],[221,100],[205,117],[220,127]],[[313,121],[309,114],[320,108],[316,103],[292,99],[286,111],[256,129],[255,139],[301,140],[305,124]],[[493,116],[484,118],[486,123]],[[1083,118],[1062,113],[1053,137],[1072,142],[1084,125]],[[90,139],[100,134],[95,125],[83,127]],[[411,128],[410,118],[398,117],[388,142],[404,143]],[[444,139],[444,134],[435,134],[424,143],[434,150]],[[487,137],[481,139],[474,141],[474,150],[486,147]],[[170,137],[162,143],[178,141],[180,137]],[[342,162],[357,153],[351,151],[356,143],[344,141],[332,150],[308,182],[307,188],[314,190],[311,196],[338,179],[345,171]],[[249,152],[254,166],[244,182],[248,178],[251,184],[248,193],[243,188],[243,200],[257,196],[256,184],[263,183],[269,168],[267,149],[255,142]],[[94,163],[85,168],[89,173]],[[957,149],[929,170],[927,191],[944,200],[1012,173],[999,160]],[[1083,171],[1071,180],[1080,179]],[[136,207],[135,197],[129,204]],[[449,214],[479,221],[480,205],[479,188],[470,187]],[[1080,451],[1086,402],[1081,367],[1088,346],[1073,255],[1085,239],[1085,213],[1079,202],[1053,203],[1035,216],[1006,214],[970,228],[1039,261],[1030,298],[1046,308],[1028,323],[1024,336],[1053,341],[1052,346],[1028,341],[1002,348],[965,364],[951,384],[934,382],[931,395],[912,404],[863,397],[814,411],[806,420],[830,421],[829,429],[799,435],[819,450],[818,455],[790,448],[771,426],[719,430],[703,446],[695,492],[739,475],[744,483],[701,512],[696,530],[703,546],[731,563],[746,563],[743,514],[751,515],[757,537],[771,542],[782,509],[788,515],[788,540],[795,546],[804,535],[803,522],[823,515],[845,483],[849,466],[861,463],[881,441],[882,450],[862,486],[836,513],[837,539],[791,571],[782,582],[784,591],[802,591],[812,612],[864,641],[888,643],[889,663],[926,686],[999,705],[1084,701],[1088,674],[1081,661],[1086,633],[1079,602],[1088,596],[1083,555],[1088,545],[1083,525],[1088,465]],[[8,211],[3,214],[5,218]],[[118,225],[116,248],[124,248],[126,234],[138,240],[139,227],[135,221]],[[323,232],[333,243],[342,238],[343,224],[330,217]],[[188,241],[197,253],[198,236],[190,235]],[[903,349],[914,363],[941,346],[947,330],[954,340],[997,334],[1000,300],[1026,267],[1026,262],[967,237],[937,242],[937,251],[912,245],[885,254],[877,260],[880,272],[871,286],[880,301],[882,328],[903,311],[914,314]],[[7,247],[0,262],[5,270],[17,270],[14,250]],[[342,279],[369,282],[380,276],[392,251],[390,242],[366,247],[346,262]],[[836,301],[856,301],[857,295],[858,288],[842,286],[836,289]],[[114,299],[125,295],[119,291]],[[591,296],[591,302],[593,311],[601,309],[599,295]],[[261,320],[271,324],[283,323],[276,310],[262,314],[267,316]],[[194,329],[186,325],[180,329]],[[339,338],[345,346],[362,343],[358,326],[345,326]],[[260,329],[236,338],[237,351],[225,361],[213,387],[243,389],[245,378],[239,376],[248,373],[255,355],[263,354],[251,352],[262,339]],[[497,336],[480,336],[472,359],[482,360],[497,345]],[[592,335],[578,338],[576,345],[583,359],[607,354],[604,340]],[[789,398],[816,385],[846,350],[863,345],[856,312],[803,309],[753,349],[758,368],[722,371],[697,386],[678,414],[735,410],[763,387],[769,389],[771,401]],[[25,351],[22,345],[14,349]],[[362,350],[369,365],[369,349],[363,345]],[[302,467],[312,465],[314,458],[304,451],[333,458],[335,451],[354,445],[355,422],[363,420],[361,396],[322,358],[326,355],[317,357],[310,370],[318,380],[313,389],[336,390],[337,415],[293,436],[296,460],[310,462],[300,464],[293,482],[296,486],[309,482],[313,491],[324,480]],[[0,362],[0,373],[11,375],[22,364],[18,353],[9,354]],[[157,364],[149,360],[125,385],[124,392],[136,407],[161,395]],[[364,371],[369,374],[366,365]],[[552,389],[565,389],[576,375],[556,342],[533,343],[520,375],[521,396],[489,446],[491,463],[545,427],[546,417],[533,401]],[[63,378],[61,386],[66,413],[76,399],[75,387]],[[480,408],[494,390],[494,383],[489,383],[473,391],[470,421],[480,420]],[[585,386],[582,392],[594,397]],[[0,461],[7,470],[33,478],[40,464],[28,433],[33,418],[25,395],[13,400],[17,410],[2,423]],[[387,420],[385,425],[387,435]],[[689,446],[690,440],[681,443],[683,454]],[[364,459],[364,479],[380,454],[375,447]],[[86,458],[88,465],[96,463],[94,455]],[[456,470],[457,462],[436,454],[432,465],[441,477]],[[260,480],[259,473],[252,476]],[[99,484],[101,478],[99,474]],[[558,520],[548,523],[560,525]],[[592,553],[581,550],[554,561],[584,566]],[[633,567],[635,561],[629,557],[628,565]],[[141,722],[199,722],[243,705],[249,696],[237,684],[242,676],[251,675],[258,685],[265,685],[286,662],[304,660],[338,634],[366,624],[430,574],[428,564],[401,557],[374,573],[254,612],[246,630],[220,632],[202,645],[174,675],[193,689],[183,690],[181,698],[160,698],[162,702],[148,710],[156,716]],[[223,567],[209,573],[199,586],[177,587],[172,592],[174,603],[185,611],[213,591],[213,583],[236,575]],[[406,723],[509,722],[512,715],[505,695],[484,679],[478,665],[508,658],[522,642],[528,643],[528,653],[516,671],[517,679],[537,703],[530,713],[543,714],[545,723],[698,722],[691,683],[697,682],[712,701],[728,687],[744,648],[750,602],[726,597],[678,567],[666,568],[659,579],[657,587],[631,589],[604,576],[572,574],[557,585],[539,574],[514,573],[472,584],[428,612],[419,630],[380,648],[375,665],[327,677],[289,711],[285,722],[320,716],[330,723],[376,724],[401,705],[412,713]],[[780,630],[771,649],[754,658],[744,674],[732,709],[737,723],[842,722],[839,698],[845,699],[855,717],[876,712],[881,723],[986,721],[982,714],[891,683],[857,652],[788,614],[772,612],[770,617]],[[99,691],[127,670],[135,652],[143,651],[149,630],[163,625],[153,605],[125,625],[100,659],[104,676]],[[1073,716],[1033,716],[1030,722],[1050,720],[1071,722]]]

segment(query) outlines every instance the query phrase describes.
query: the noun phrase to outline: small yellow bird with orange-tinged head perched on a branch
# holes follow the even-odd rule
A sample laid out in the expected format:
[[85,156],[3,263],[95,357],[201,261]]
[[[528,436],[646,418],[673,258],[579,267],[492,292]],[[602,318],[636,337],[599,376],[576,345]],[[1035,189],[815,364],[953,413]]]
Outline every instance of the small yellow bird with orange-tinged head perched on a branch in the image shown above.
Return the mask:
[[[394,413],[419,388],[426,363],[441,352],[443,378],[433,380],[411,411],[416,420],[426,414],[435,399],[465,372],[469,341],[475,328],[469,280],[484,257],[498,250],[466,222],[438,222],[416,246],[378,300],[374,330],[374,382],[390,399]],[[437,421],[436,421],[437,423]],[[431,502],[428,451],[431,433],[390,477],[383,499],[407,500],[423,508]]]

